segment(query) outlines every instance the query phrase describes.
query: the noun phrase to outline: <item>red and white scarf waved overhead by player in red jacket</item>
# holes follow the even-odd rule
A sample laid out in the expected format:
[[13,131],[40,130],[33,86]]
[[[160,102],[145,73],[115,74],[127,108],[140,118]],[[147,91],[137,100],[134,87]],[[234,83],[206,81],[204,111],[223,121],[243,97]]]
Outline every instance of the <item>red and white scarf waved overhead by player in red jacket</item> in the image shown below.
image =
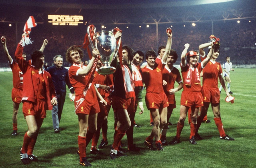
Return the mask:
[[28,44],[32,44],[32,42],[34,42],[34,41],[31,41],[29,38],[29,34],[31,32],[32,27],[36,27],[36,21],[33,16],[30,16],[28,18],[28,21],[24,25],[23,31],[24,31],[24,33],[27,33],[28,35],[22,37],[22,47],[24,47],[25,44],[28,45]]

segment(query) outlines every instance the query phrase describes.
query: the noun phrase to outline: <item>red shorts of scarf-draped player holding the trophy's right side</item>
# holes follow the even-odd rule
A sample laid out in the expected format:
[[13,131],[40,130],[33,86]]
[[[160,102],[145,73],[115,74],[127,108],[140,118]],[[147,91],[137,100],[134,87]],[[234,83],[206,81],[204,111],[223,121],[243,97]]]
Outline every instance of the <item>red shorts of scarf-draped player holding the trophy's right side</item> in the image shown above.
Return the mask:
[[134,113],[134,98],[122,99],[118,96],[112,96],[112,108],[114,112],[117,109],[126,109],[128,114]]

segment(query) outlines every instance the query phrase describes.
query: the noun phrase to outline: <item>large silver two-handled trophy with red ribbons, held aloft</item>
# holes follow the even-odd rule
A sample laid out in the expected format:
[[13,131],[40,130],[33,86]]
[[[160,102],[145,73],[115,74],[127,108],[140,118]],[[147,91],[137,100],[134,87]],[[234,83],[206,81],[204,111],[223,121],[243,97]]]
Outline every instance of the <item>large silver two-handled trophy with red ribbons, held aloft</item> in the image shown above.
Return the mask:
[[116,39],[111,31],[98,31],[95,33],[95,27],[93,26],[93,30],[90,28],[90,26],[87,28],[90,45],[92,46],[92,49],[98,49],[100,53],[100,61],[103,64],[103,66],[98,69],[98,73],[113,74],[116,72],[116,68],[110,66],[110,63],[116,57],[121,38],[116,46]]

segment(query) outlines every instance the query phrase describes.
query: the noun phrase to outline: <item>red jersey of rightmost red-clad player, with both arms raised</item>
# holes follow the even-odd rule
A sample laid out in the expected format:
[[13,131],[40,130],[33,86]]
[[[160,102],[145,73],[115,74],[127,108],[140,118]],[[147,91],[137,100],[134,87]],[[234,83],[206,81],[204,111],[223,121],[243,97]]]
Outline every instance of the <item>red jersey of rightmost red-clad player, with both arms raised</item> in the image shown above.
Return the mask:
[[222,74],[221,64],[210,60],[203,69],[203,86],[218,88],[220,74]]

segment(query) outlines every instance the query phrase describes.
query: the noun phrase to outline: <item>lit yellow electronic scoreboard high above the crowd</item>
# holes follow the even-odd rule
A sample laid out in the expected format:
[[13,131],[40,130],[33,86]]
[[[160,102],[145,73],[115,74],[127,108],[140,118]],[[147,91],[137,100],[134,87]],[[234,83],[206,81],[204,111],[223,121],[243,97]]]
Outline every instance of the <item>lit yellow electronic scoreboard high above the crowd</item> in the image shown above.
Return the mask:
[[83,20],[79,15],[48,15],[48,23],[52,25],[78,25],[84,23]]

